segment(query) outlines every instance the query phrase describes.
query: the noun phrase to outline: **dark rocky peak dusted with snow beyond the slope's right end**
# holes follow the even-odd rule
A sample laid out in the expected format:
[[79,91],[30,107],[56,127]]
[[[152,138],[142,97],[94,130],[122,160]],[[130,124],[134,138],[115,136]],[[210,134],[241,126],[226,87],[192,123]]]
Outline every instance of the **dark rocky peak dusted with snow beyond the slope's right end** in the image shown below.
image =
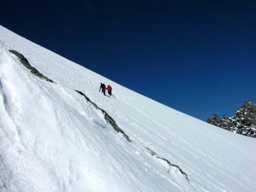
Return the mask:
[[220,119],[218,115],[213,114],[207,119],[207,123],[241,135],[256,137],[256,105],[245,102],[234,116],[229,118],[224,115]]

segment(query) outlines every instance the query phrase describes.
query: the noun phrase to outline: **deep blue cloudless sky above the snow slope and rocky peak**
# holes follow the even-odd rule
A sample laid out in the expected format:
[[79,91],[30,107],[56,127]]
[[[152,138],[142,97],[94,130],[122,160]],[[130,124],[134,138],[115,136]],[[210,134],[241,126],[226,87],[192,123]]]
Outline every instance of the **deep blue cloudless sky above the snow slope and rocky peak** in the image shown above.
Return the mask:
[[3,27],[201,120],[256,103],[255,23],[255,1],[0,0]]

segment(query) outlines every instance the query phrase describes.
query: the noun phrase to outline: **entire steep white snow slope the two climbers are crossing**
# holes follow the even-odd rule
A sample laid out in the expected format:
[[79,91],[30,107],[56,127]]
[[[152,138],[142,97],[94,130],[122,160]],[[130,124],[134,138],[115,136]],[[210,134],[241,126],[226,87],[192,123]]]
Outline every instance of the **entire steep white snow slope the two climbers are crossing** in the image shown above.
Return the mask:
[[[143,97],[1,26],[0,41],[1,191],[256,191],[255,139]],[[116,99],[98,92],[100,82]]]

